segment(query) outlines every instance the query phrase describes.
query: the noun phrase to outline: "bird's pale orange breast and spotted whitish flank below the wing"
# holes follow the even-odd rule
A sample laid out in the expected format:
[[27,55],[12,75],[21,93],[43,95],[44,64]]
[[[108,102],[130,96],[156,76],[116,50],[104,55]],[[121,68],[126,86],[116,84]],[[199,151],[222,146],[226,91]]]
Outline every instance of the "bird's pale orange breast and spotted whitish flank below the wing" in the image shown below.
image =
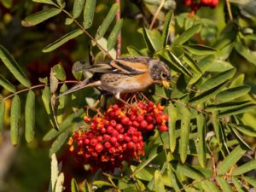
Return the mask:
[[102,75],[101,82],[102,90],[116,94],[144,90],[153,84],[153,79],[148,73],[138,75],[106,73]]

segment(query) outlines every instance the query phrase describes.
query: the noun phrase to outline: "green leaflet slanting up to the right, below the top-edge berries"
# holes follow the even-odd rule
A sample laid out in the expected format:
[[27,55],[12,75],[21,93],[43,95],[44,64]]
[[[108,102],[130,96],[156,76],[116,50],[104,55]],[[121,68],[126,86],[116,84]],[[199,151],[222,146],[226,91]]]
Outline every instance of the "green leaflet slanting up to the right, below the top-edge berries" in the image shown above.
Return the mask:
[[195,35],[195,33],[200,32],[200,30],[201,30],[201,24],[192,26],[188,30],[183,32],[178,38],[176,38],[172,44],[173,45],[184,44],[189,40],[189,38],[192,38]]

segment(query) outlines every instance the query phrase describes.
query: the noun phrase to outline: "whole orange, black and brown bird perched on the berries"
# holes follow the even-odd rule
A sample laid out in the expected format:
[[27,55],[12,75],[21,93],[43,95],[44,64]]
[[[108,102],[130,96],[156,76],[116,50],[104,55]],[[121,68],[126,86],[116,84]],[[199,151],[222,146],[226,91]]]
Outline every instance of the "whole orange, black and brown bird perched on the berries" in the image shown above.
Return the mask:
[[171,81],[170,69],[166,63],[143,56],[106,61],[83,70],[93,73],[92,77],[85,79],[57,98],[92,86],[106,90],[120,99],[122,93],[142,91],[151,84],[163,84],[167,88]]

